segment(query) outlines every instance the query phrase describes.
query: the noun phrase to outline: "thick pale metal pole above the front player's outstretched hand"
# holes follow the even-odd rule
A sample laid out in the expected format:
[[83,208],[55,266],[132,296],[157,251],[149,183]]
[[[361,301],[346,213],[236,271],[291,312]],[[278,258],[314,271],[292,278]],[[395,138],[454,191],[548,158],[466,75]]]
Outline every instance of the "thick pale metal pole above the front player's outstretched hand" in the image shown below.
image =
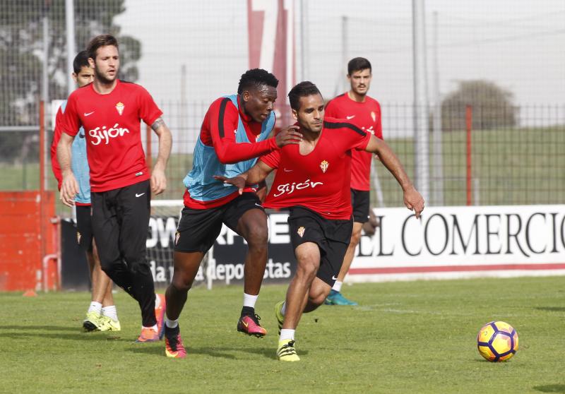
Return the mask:
[[429,132],[427,124],[426,78],[424,76],[424,0],[412,0],[412,51],[414,73],[414,155],[415,186],[429,201]]

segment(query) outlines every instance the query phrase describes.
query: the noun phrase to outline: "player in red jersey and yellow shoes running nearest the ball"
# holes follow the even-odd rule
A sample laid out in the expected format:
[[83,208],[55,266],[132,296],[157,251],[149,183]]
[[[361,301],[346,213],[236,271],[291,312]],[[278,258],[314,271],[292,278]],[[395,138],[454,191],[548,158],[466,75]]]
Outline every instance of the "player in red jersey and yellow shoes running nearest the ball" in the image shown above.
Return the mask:
[[288,97],[292,116],[303,138],[265,155],[248,172],[226,179],[237,186],[262,181],[278,169],[263,204],[267,208],[290,208],[288,224],[297,270],[286,300],[275,306],[280,328],[277,357],[299,361],[295,330],[302,313],[314,311],[328,296],[338,275],[352,231],[350,165],[353,149],[379,155],[404,191],[404,203],[415,211],[424,200],[412,186],[400,161],[384,141],[366,133],[346,119],[324,118],[323,98],[311,82],[301,82]]

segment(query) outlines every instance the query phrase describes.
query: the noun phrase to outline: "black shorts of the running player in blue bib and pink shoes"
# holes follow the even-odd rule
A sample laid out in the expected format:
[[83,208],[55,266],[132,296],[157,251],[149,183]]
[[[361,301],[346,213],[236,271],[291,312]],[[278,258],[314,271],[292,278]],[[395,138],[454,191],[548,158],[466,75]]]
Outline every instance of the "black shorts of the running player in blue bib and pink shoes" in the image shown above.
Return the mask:
[[206,253],[222,231],[222,223],[237,232],[239,218],[248,210],[265,212],[255,193],[246,192],[229,203],[208,209],[183,208],[181,220],[174,237],[174,250]]

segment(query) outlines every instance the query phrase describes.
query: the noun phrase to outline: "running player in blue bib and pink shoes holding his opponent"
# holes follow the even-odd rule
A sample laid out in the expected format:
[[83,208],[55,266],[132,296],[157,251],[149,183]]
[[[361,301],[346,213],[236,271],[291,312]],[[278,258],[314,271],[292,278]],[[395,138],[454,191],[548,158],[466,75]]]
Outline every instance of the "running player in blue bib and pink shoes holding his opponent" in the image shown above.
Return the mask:
[[191,172],[184,178],[184,209],[174,244],[174,273],[167,288],[165,354],[182,358],[186,350],[178,319],[205,253],[220,234],[222,224],[247,242],[244,264],[244,297],[237,330],[262,337],[255,313],[267,263],[267,215],[254,188],[238,193],[213,175],[235,177],[256,162],[256,157],[298,143],[300,134],[291,127],[268,138],[275,126],[273,107],[278,80],[261,68],[246,71],[239,80],[237,95],[215,100],[202,122],[194,148]]

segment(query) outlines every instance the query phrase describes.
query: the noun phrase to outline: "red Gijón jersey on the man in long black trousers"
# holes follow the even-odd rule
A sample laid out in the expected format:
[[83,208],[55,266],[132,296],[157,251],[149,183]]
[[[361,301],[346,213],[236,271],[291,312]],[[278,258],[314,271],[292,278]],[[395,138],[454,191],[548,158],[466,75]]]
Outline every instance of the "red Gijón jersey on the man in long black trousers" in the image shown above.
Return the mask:
[[85,129],[92,191],[108,191],[150,178],[141,145],[141,120],[153,124],[162,115],[141,85],[117,80],[107,95],[92,83],[69,96],[63,131]]

